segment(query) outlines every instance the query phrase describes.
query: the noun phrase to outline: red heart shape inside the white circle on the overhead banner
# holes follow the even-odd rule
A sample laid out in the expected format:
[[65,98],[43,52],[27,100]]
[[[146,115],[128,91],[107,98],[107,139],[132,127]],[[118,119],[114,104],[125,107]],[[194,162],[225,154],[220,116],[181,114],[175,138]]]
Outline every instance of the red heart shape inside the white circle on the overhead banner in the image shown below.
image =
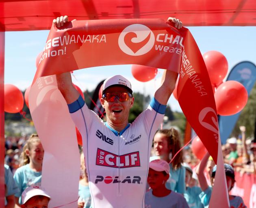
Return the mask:
[[137,34],[135,32],[128,32],[126,36],[124,36],[124,43],[136,54],[138,50],[140,50],[144,45],[148,43],[150,40],[150,33],[148,37],[146,37],[143,41],[137,42]]

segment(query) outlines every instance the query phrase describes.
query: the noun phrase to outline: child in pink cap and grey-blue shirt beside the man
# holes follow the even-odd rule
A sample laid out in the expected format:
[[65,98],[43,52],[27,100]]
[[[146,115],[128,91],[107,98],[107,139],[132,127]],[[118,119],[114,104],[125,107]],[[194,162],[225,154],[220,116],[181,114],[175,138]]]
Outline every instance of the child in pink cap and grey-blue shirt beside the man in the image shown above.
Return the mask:
[[189,208],[180,194],[166,189],[169,179],[169,164],[165,160],[152,160],[149,164],[148,184],[150,190],[145,195],[145,208]]

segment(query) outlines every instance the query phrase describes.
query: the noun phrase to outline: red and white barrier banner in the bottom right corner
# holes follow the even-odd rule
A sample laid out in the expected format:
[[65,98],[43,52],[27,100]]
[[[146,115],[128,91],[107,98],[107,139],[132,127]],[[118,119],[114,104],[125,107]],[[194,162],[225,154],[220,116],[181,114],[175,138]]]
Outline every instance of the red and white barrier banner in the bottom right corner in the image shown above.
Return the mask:
[[256,208],[256,175],[235,172],[235,180],[230,194],[242,197],[248,208]]

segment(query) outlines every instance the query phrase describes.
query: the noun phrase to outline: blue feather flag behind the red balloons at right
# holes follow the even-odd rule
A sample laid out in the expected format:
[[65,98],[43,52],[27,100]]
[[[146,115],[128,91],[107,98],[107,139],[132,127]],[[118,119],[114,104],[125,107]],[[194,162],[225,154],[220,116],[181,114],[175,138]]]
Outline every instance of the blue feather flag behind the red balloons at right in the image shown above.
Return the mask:
[[[249,61],[243,61],[236,64],[231,69],[226,81],[235,80],[240,82],[247,90],[248,96],[256,81],[256,66]],[[235,115],[219,116],[219,132],[221,136],[221,143],[225,144],[230,136],[241,111]]]

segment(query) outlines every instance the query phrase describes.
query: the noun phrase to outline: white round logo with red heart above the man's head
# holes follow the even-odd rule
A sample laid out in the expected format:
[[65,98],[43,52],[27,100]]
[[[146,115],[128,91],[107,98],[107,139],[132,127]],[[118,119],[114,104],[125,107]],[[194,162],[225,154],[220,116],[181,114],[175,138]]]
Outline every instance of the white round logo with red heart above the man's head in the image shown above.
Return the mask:
[[119,48],[130,56],[148,53],[155,43],[152,30],[143,24],[132,24],[124,28],[118,38]]

